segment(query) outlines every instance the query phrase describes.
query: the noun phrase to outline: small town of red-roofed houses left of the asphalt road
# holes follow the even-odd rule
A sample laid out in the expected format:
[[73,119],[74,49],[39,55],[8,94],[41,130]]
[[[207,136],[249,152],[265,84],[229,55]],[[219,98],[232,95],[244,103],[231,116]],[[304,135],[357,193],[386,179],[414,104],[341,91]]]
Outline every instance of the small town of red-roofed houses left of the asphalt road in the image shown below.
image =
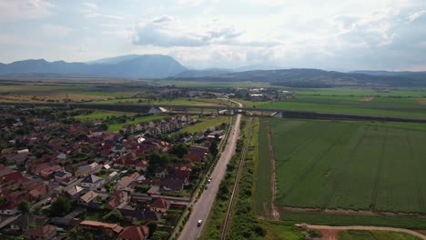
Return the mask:
[[228,127],[166,141],[163,135],[196,121],[169,115],[111,132],[102,121],[69,117],[77,110],[6,108],[0,231],[29,239],[167,239]]

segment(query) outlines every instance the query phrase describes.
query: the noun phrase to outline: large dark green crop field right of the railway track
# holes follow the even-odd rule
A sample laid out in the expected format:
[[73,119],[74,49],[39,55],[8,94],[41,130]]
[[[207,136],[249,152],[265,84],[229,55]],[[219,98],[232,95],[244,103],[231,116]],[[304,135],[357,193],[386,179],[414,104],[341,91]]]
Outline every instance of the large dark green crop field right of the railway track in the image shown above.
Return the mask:
[[[425,131],[314,120],[270,119],[269,125],[277,205],[426,213]],[[259,145],[259,154],[268,155]]]

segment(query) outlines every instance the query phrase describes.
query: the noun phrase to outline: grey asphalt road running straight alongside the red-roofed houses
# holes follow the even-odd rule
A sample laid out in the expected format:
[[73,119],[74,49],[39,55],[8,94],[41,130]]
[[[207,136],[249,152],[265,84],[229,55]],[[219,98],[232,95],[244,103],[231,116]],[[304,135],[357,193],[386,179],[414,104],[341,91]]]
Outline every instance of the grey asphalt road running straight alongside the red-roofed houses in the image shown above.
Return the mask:
[[[242,106],[238,103],[238,105]],[[218,194],[218,185],[225,175],[227,165],[232,155],[234,155],[235,147],[237,145],[239,135],[239,124],[241,122],[241,115],[237,115],[235,124],[232,125],[231,132],[228,136],[228,143],[220,155],[218,164],[216,165],[213,173],[211,174],[211,182],[208,184],[208,189],[204,190],[198,202],[192,206],[192,212],[189,216],[187,224],[184,226],[179,235],[180,240],[198,239],[201,231],[205,225],[208,213],[211,210],[216,195]],[[198,220],[202,220],[202,225],[198,226]]]

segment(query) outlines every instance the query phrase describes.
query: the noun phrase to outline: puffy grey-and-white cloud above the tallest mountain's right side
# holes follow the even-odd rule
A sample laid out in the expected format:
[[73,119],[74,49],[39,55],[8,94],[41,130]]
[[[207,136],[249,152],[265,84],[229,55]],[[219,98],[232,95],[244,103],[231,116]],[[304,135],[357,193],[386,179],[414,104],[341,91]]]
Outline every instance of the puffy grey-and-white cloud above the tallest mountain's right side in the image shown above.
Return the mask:
[[222,26],[213,21],[208,25],[182,25],[170,16],[161,16],[148,23],[139,23],[131,36],[134,45],[164,47],[195,47],[211,44],[229,44],[242,35],[233,26]]

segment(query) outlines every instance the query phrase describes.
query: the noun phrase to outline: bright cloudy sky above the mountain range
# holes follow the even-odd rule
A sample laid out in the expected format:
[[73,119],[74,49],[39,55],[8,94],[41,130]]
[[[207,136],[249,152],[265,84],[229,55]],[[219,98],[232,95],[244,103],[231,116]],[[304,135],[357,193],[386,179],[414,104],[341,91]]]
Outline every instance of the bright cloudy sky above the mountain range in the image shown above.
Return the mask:
[[425,0],[0,0],[0,62],[426,71]]

